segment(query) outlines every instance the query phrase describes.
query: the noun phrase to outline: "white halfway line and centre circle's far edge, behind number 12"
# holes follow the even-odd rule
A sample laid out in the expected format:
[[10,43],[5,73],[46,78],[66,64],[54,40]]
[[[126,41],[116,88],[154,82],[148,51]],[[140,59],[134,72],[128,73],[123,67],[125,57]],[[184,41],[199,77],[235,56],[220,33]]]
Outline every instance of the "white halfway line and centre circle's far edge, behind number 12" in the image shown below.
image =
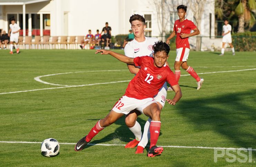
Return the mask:
[[[256,68],[250,68],[250,69],[242,69],[242,70],[230,70],[230,71],[214,71],[214,72],[208,72],[208,73],[198,73],[199,75],[202,74],[216,74],[216,73],[230,73],[230,72],[238,72],[238,71],[250,71],[250,70],[256,70]],[[104,71],[111,71],[111,70],[104,70]],[[115,70],[118,71],[118,70]],[[78,71],[76,73],[81,73],[83,71]],[[74,73],[74,72],[71,72]],[[59,73],[61,74],[61,73]],[[53,75],[53,74],[50,74]],[[181,76],[189,76],[188,75],[181,75]],[[3,92],[0,94],[11,94],[11,93],[21,93],[21,92],[31,92],[31,91],[39,91],[39,90],[49,90],[49,89],[60,89],[60,88],[72,88],[72,87],[83,87],[83,86],[93,86],[93,85],[102,85],[102,84],[114,84],[119,82],[129,82],[130,80],[125,81],[114,81],[114,82],[104,82],[104,83],[96,83],[96,84],[86,84],[86,85],[73,85],[73,86],[63,86],[63,87],[54,87],[54,88],[43,88],[43,89],[32,89],[32,90],[22,90],[22,91],[16,91],[16,92]]]

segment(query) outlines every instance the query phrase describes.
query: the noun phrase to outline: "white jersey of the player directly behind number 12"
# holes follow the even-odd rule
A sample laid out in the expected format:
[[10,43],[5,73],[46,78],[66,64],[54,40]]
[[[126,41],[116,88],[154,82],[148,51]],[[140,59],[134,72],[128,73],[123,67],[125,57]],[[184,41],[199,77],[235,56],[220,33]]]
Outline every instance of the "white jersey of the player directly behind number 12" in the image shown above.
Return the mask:
[[138,42],[135,39],[124,47],[124,54],[127,57],[135,58],[141,56],[153,57],[153,45],[158,42],[158,38],[145,37],[146,40]]

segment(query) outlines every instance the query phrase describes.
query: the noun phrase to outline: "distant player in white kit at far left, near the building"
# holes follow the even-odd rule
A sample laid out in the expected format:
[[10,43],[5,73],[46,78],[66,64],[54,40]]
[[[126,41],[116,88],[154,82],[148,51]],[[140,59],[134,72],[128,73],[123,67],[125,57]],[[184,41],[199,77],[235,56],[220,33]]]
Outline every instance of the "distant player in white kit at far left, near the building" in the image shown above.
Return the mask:
[[16,52],[19,53],[20,49],[19,49],[19,32],[20,32],[20,26],[18,24],[15,23],[15,19],[12,18],[11,19],[11,24],[10,24],[10,30],[8,33],[8,36],[10,36],[10,54],[13,54],[12,52],[12,48],[13,48],[13,42],[16,43],[17,47],[16,47]]

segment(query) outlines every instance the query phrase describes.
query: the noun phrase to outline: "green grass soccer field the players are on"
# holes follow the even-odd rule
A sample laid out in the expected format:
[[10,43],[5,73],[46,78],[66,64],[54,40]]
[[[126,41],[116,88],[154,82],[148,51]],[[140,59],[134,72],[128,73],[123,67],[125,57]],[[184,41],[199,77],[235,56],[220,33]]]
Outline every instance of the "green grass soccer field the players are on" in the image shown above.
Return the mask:
[[[9,55],[9,51],[0,51],[0,141],[42,142],[52,137],[59,143],[76,143],[104,118],[129,82],[95,84],[131,80],[133,75],[124,63],[94,52],[21,50],[18,55]],[[173,64],[175,53],[170,55],[169,63]],[[194,78],[180,78],[183,97],[175,106],[165,104],[161,112],[158,145],[164,146],[164,152],[159,157],[146,157],[145,151],[135,155],[135,148],[124,148],[133,134],[121,118],[91,142],[114,146],[90,145],[75,152],[74,144],[60,144],[60,154],[47,158],[40,154],[40,143],[0,143],[0,166],[255,166],[256,151],[252,151],[252,162],[229,163],[225,158],[232,157],[225,155],[215,163],[212,148],[167,147],[256,149],[255,62],[255,52],[237,52],[235,56],[227,52],[222,57],[191,52],[188,64],[197,73],[208,74],[199,75],[205,79],[199,91]],[[238,71],[244,69],[251,70]],[[82,72],[68,73],[76,71]],[[223,72],[212,73],[217,71]],[[67,74],[40,79],[77,87],[34,79],[58,73]],[[182,70],[181,75],[187,72]],[[168,92],[168,98],[173,95]],[[139,117],[142,127],[146,119]],[[249,152],[242,153],[249,156]]]

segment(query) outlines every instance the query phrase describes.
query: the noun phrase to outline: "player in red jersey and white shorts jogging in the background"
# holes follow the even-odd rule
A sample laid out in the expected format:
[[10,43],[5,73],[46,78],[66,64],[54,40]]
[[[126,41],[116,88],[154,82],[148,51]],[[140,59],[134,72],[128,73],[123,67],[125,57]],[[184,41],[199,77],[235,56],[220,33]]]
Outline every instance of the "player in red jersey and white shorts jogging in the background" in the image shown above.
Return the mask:
[[[196,71],[187,64],[187,59],[189,56],[190,46],[188,42],[188,37],[200,34],[197,26],[190,20],[185,19],[187,14],[187,7],[184,5],[179,5],[177,7],[179,20],[176,20],[173,27],[173,32],[167,38],[166,43],[170,44],[170,39],[176,35],[176,54],[177,57],[174,63],[175,77],[176,80],[180,79],[180,66],[186,70],[193,78],[197,80],[197,90],[199,90],[203,83],[203,78],[199,78]],[[193,30],[193,33],[190,31]],[[169,89],[168,89],[169,90]]]

